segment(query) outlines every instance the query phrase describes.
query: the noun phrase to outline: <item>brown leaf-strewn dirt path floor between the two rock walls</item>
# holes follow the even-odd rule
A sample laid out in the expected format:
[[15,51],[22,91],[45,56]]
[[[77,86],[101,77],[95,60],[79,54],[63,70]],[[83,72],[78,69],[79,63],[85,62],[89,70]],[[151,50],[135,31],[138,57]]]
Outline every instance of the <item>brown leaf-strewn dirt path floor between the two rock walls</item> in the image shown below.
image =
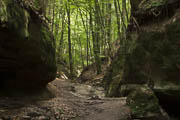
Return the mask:
[[39,93],[1,95],[0,120],[130,120],[130,110],[101,87],[56,79]]

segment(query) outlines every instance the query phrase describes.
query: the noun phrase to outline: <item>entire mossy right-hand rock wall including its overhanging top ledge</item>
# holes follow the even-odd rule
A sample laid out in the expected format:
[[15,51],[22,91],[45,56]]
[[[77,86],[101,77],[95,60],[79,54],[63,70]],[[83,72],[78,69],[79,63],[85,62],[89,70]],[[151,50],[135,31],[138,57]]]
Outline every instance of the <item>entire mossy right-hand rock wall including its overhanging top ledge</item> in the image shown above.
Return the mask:
[[[145,113],[146,98],[157,99],[155,93],[163,101],[171,100],[166,101],[168,104],[180,100],[180,1],[142,0],[132,8],[136,22],[132,20],[127,31],[127,53],[123,56],[123,48],[119,49],[104,77],[104,86],[107,96],[127,96],[134,103],[139,101],[136,96],[142,95],[144,109],[140,110]],[[152,94],[136,90],[144,85]],[[160,111],[156,103],[153,106]]]

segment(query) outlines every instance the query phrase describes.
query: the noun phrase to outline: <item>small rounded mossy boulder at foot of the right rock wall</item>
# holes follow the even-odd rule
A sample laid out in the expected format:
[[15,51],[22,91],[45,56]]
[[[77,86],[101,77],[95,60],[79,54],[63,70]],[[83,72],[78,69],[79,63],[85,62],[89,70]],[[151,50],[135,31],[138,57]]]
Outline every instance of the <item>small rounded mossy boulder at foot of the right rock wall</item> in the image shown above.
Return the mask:
[[154,92],[147,86],[136,87],[127,96],[127,105],[131,109],[133,119],[140,120],[170,120],[162,111]]

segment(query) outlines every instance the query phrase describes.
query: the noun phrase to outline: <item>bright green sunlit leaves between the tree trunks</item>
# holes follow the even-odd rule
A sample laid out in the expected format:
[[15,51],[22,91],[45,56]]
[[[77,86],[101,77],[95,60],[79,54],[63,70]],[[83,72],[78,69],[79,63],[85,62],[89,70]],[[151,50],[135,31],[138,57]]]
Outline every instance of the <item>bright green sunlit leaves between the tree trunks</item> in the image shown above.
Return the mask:
[[[119,15],[122,15],[122,1],[119,1],[120,10]],[[125,20],[122,20],[121,24],[125,24],[126,27],[129,22],[130,17],[130,2],[126,0],[126,10],[127,16]],[[111,9],[108,5],[111,4]],[[57,56],[61,56],[62,59],[68,60],[68,25],[67,25],[67,6],[70,8],[71,16],[71,41],[72,41],[72,54],[74,66],[83,66],[91,64],[95,59],[95,46],[92,36],[92,31],[95,35],[99,34],[100,41],[100,56],[107,56],[109,47],[111,44],[118,39],[117,34],[117,19],[115,14],[114,0],[99,0],[98,10],[95,12],[95,1],[94,0],[52,0],[48,9],[47,17],[52,20],[51,28],[56,39],[56,53]],[[90,18],[90,14],[92,18]],[[111,14],[111,16],[110,16]],[[65,19],[63,19],[65,16]],[[97,24],[96,16],[99,17],[99,23]],[[111,19],[110,25],[108,25],[108,19]],[[92,28],[90,25],[90,20],[92,20]],[[63,26],[63,24],[65,24]],[[99,30],[95,30],[96,28]],[[108,31],[110,33],[110,38],[108,42]],[[123,33],[123,25],[121,25],[120,31]],[[62,32],[64,32],[62,36]],[[60,52],[59,47],[61,46],[62,51]],[[63,48],[62,48],[63,47]],[[88,63],[87,63],[88,59]],[[76,67],[79,69],[79,67]]]

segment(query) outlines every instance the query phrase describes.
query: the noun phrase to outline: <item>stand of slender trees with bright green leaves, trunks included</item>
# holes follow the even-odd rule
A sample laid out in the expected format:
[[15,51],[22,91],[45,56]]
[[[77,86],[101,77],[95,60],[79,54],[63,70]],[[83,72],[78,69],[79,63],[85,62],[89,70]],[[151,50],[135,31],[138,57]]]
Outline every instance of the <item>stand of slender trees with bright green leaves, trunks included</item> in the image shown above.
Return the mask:
[[100,72],[101,57],[113,57],[125,38],[129,0],[51,0],[39,4],[55,36],[57,61],[68,63],[72,76],[75,69],[94,62]]

